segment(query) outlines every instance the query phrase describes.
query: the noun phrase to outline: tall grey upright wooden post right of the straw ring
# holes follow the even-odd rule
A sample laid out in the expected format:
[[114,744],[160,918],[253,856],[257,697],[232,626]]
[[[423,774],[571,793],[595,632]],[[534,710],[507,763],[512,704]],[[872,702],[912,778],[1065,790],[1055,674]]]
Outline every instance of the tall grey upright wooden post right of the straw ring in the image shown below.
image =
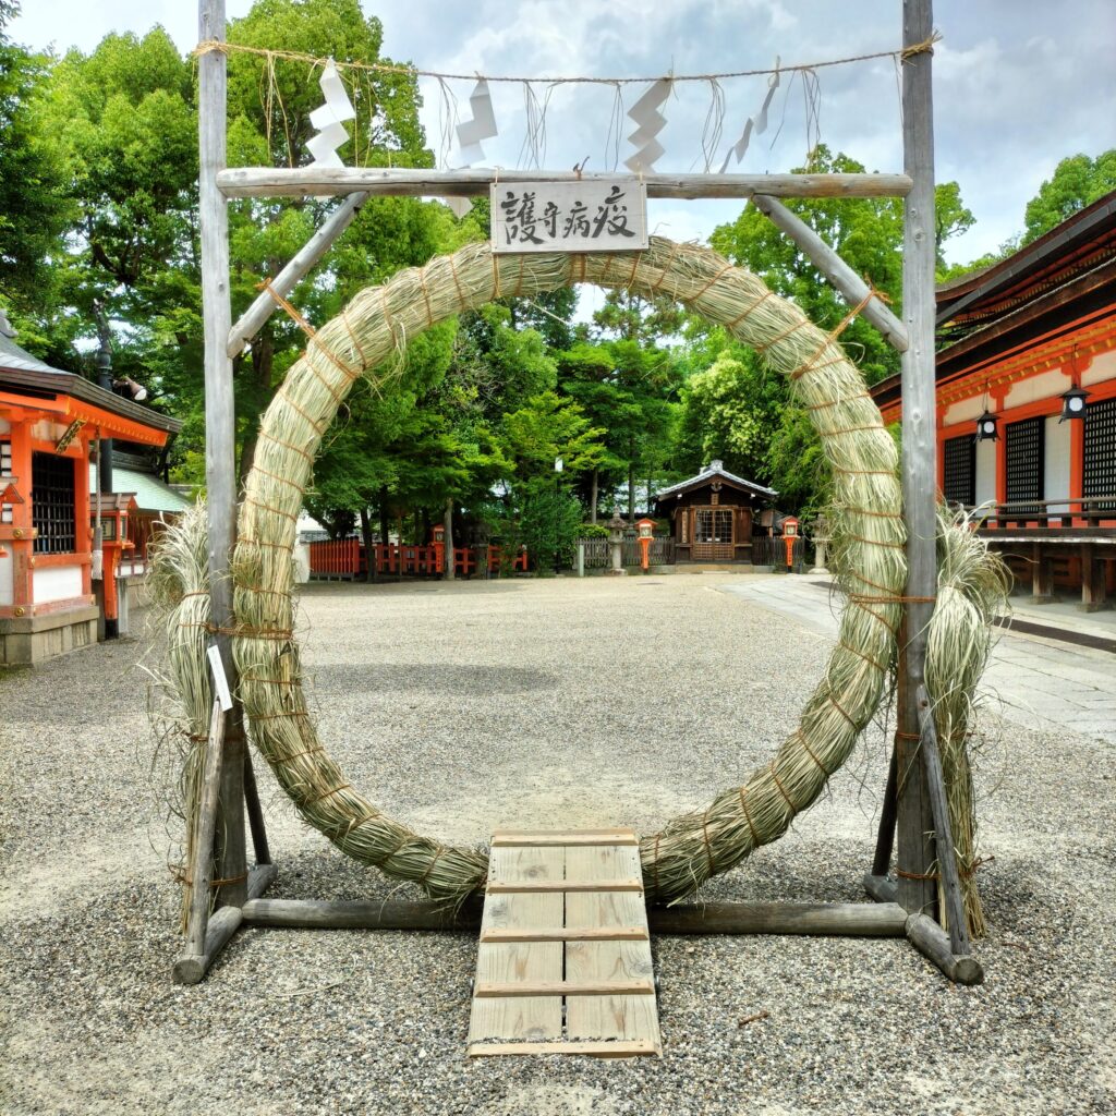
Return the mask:
[[[931,0],[903,0],[903,45],[929,41]],[[917,690],[925,679],[926,634],[937,593],[934,398],[934,125],[930,50],[903,61],[903,169],[912,180],[904,202],[903,319],[910,347],[902,356],[903,510],[907,587],[899,632],[897,734],[898,901],[912,914],[934,915],[934,828],[926,775],[917,753]]]

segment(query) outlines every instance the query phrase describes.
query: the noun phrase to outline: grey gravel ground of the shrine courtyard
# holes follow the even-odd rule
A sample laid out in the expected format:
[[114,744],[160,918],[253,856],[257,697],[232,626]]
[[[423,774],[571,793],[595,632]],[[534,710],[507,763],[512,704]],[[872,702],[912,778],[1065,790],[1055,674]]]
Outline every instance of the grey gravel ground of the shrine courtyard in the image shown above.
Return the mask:
[[[444,838],[645,830],[766,759],[824,668],[825,637],[728,580],[312,587],[321,738],[374,800]],[[203,984],[171,982],[144,650],[0,675],[4,1114],[1116,1108],[1110,743],[1012,725],[985,762],[982,987],[952,987],[902,941],[660,937],[661,1060],[470,1064],[470,935],[252,930]],[[885,767],[870,732],[830,793],[708,896],[862,898]],[[260,778],[271,894],[400,892]]]

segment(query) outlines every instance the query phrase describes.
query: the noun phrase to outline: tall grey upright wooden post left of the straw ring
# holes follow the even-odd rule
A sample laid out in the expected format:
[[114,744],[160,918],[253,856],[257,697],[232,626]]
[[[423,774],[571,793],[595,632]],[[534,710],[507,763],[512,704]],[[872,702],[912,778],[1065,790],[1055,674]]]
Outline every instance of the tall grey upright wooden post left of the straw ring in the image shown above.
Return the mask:
[[[199,0],[199,41],[224,39],[224,0]],[[237,523],[235,414],[232,362],[227,346],[232,306],[229,301],[228,203],[217,189],[225,163],[227,60],[220,50],[198,59],[199,206],[202,262],[202,315],[205,333],[205,487],[209,513],[211,616],[217,643],[235,692],[235,668],[229,636],[232,583],[229,559]],[[219,901],[240,906],[248,895],[244,849],[244,729],[239,704],[225,723],[221,769],[221,878]]]

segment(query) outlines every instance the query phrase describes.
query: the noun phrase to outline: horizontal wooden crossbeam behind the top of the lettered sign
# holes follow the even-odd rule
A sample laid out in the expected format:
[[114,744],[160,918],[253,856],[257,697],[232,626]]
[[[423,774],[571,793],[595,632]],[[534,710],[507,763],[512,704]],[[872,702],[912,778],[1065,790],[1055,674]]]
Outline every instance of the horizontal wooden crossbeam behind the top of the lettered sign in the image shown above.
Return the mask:
[[[218,189],[225,198],[329,196],[363,192],[411,198],[477,198],[492,183],[612,183],[615,174],[542,171],[427,171],[381,166],[300,166],[294,170],[241,166],[219,171]],[[633,177],[633,182],[641,181]],[[905,174],[644,174],[648,198],[902,198],[911,190]]]

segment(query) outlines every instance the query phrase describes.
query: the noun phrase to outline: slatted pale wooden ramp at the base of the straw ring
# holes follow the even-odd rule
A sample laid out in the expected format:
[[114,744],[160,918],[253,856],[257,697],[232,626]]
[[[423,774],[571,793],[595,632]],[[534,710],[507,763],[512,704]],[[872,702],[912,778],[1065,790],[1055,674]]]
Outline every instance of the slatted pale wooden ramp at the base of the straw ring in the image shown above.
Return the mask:
[[492,835],[469,1054],[662,1054],[631,829]]

